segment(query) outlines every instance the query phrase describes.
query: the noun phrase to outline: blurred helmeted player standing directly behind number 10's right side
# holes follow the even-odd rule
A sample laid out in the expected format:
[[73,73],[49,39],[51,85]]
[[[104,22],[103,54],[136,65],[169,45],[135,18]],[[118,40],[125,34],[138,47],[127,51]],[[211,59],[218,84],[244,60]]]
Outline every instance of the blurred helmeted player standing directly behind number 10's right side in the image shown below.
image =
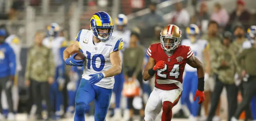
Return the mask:
[[[126,26],[128,24],[128,18],[124,14],[119,14],[117,18],[115,19],[115,25],[117,27],[116,31],[113,31],[113,35],[123,38],[124,47],[120,51],[121,60],[123,62],[123,51],[129,47],[130,44],[130,36],[131,31],[126,29]],[[123,90],[123,82],[124,82],[124,75],[121,72],[120,74],[116,75],[115,77],[115,84],[113,88],[113,92],[115,93],[115,110],[114,110],[114,116],[113,119],[120,120],[122,118],[121,110],[120,110],[120,104],[121,104],[121,93]],[[125,112],[128,112],[127,109]]]

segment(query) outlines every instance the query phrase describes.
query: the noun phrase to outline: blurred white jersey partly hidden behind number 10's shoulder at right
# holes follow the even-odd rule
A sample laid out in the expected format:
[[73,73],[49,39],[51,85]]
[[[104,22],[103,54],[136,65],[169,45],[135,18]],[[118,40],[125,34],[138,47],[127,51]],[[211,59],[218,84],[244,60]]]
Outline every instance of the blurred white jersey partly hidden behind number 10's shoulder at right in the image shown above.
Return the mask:
[[112,35],[123,38],[123,49],[120,51],[120,57],[123,63],[123,51],[130,46],[131,31],[114,31]]

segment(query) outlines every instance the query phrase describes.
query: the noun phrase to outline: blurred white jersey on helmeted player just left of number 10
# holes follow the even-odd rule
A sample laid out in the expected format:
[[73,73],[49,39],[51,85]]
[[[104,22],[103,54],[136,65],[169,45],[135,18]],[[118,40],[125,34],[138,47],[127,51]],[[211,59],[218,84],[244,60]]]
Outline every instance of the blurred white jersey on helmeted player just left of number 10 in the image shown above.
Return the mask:
[[43,45],[52,49],[52,54],[54,57],[55,67],[62,65],[63,61],[61,58],[60,48],[67,46],[65,37],[51,38],[47,37],[43,40]]

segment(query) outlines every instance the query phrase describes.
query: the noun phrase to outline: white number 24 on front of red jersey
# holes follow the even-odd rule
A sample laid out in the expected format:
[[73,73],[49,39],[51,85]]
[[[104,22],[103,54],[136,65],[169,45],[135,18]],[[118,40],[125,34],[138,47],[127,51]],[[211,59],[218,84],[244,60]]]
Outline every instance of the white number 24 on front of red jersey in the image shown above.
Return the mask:
[[[167,72],[167,71],[168,71],[168,68],[167,68],[167,65],[165,64],[163,69],[157,70],[157,76],[167,79],[168,78],[167,74],[163,74],[163,72]],[[179,75],[180,75],[180,65],[174,64],[172,70],[170,71],[169,76],[175,77],[175,79],[177,79],[179,78]]]

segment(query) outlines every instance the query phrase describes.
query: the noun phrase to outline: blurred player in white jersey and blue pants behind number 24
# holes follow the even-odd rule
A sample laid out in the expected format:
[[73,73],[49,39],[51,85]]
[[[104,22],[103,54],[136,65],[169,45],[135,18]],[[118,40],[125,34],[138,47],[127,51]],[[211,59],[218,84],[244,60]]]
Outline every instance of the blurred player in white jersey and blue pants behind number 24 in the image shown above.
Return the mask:
[[[209,57],[209,43],[206,40],[200,40],[199,34],[200,30],[195,24],[190,24],[186,29],[187,38],[181,41],[181,45],[190,46],[193,53],[197,58],[203,62],[205,60],[206,71],[204,74],[204,79],[207,80],[210,73],[210,57]],[[181,104],[186,105],[190,111],[191,120],[196,120],[199,109],[199,104],[197,101],[190,102],[190,93],[195,95],[197,91],[197,69],[186,64],[185,66],[185,76],[183,80],[183,92],[181,95]],[[198,100],[198,99],[197,99]],[[184,108],[184,107],[183,107]]]

